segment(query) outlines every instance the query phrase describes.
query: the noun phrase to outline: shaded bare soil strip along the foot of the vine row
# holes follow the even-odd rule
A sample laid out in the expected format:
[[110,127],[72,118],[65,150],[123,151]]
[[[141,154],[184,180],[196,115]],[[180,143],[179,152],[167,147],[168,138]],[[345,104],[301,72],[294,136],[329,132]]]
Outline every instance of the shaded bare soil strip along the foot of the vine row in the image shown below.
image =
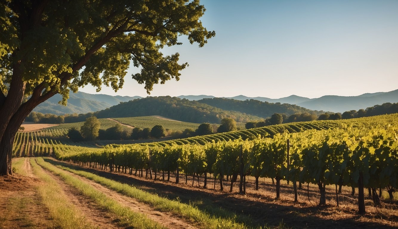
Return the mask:
[[[59,163],[62,164],[62,162]],[[294,204],[288,199],[275,202],[273,196],[264,196],[258,192],[251,192],[246,196],[242,196],[236,193],[220,192],[218,190],[203,188],[199,189],[197,187],[191,188],[185,184],[174,184],[172,182],[165,183],[160,181],[153,182],[152,180],[146,180],[133,175],[109,173],[107,171],[80,167],[68,163],[64,164],[71,165],[72,167],[76,167],[78,169],[80,168],[80,170],[94,173],[101,177],[112,179],[117,182],[137,186],[142,190],[156,193],[159,196],[168,199],[175,199],[178,197],[183,203],[203,201],[205,202],[203,205],[198,205],[200,210],[206,210],[206,204],[211,203],[213,206],[217,206],[231,212],[236,212],[238,214],[250,216],[256,220],[256,223],[259,223],[260,225],[267,223],[268,226],[277,227],[279,223],[283,221],[287,227],[297,227],[297,222],[300,222],[304,223],[302,227],[306,228],[321,228],[324,227],[324,225],[328,225],[328,227],[332,228],[395,228],[392,225],[386,225],[386,222],[369,222],[369,219],[377,218],[377,216],[372,214],[367,215],[367,217],[351,215],[350,212],[355,212],[355,210],[350,210],[349,208],[345,210],[346,213],[339,213],[338,219],[335,219],[333,214],[330,212],[335,211],[334,207],[332,206],[334,203],[330,203],[332,205],[329,204],[327,207],[320,207],[316,205],[316,201],[318,201],[319,198],[318,190],[316,189],[310,190],[313,205],[306,203],[306,189],[301,190],[301,201],[298,204]],[[161,177],[160,174],[159,176]],[[180,180],[183,182],[185,179],[181,179],[180,177]],[[229,189],[228,183],[229,182],[226,182],[226,189]],[[234,185],[235,191],[238,185],[237,183],[238,182],[236,182]],[[209,180],[208,185],[209,187],[212,187],[213,182]],[[269,184],[265,185],[263,188],[274,192],[274,187]],[[281,185],[281,188],[291,189],[285,185]],[[274,194],[272,193],[272,195]],[[300,214],[298,214],[298,212],[300,212]],[[322,215],[322,217],[320,217],[320,215]],[[394,219],[392,220],[394,221]],[[396,225],[396,223],[393,225]]]

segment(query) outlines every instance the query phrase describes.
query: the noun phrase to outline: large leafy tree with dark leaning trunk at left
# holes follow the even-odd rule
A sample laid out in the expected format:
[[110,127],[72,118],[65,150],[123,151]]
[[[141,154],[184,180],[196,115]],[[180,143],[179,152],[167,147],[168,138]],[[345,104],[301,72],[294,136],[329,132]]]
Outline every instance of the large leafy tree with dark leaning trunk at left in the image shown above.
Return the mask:
[[12,143],[24,118],[60,93],[92,84],[115,91],[132,63],[134,80],[149,93],[154,83],[179,79],[179,54],[166,46],[185,35],[202,47],[215,35],[199,21],[199,0],[1,0],[0,175],[12,174]]

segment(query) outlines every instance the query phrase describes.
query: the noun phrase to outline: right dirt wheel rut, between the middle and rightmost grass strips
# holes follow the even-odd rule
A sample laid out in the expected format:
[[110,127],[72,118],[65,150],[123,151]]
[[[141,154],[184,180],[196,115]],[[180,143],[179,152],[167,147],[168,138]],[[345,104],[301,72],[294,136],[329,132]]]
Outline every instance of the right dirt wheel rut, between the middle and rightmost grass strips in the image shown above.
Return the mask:
[[[67,173],[68,175],[72,175],[72,176],[78,178],[79,180],[85,182],[86,184],[90,184],[96,190],[99,190],[100,192],[102,192],[103,194],[108,196],[109,198],[119,202],[123,206],[131,208],[131,210],[133,210],[135,212],[143,213],[144,215],[146,215],[146,217],[148,217],[149,219],[152,219],[153,221],[156,221],[157,223],[159,223],[160,225],[162,225],[164,227],[167,227],[170,229],[185,229],[185,228],[186,229],[194,229],[194,228],[196,228],[190,224],[191,222],[184,221],[183,219],[179,218],[178,216],[175,216],[168,212],[157,211],[153,207],[151,207],[147,204],[138,202],[137,200],[135,200],[133,198],[123,196],[122,194],[119,194],[116,191],[110,190],[109,188],[106,188],[106,187],[102,186],[101,184],[98,184],[92,180],[86,179],[84,177],[80,177],[80,176],[78,176],[74,173],[70,173],[68,171],[64,171],[64,173]],[[52,176],[55,176],[55,175],[52,175]],[[58,178],[57,181],[60,180],[62,182],[62,179],[60,179],[58,176],[55,176],[55,177]],[[61,186],[64,187],[67,185],[64,184]],[[117,228],[120,228],[120,226]]]

